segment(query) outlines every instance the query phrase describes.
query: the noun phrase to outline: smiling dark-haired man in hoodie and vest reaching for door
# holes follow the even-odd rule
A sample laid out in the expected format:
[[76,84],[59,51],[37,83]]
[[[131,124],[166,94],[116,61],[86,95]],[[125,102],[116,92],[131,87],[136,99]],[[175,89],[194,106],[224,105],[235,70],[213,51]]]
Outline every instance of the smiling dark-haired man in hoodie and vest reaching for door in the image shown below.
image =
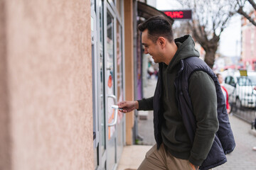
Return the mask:
[[[149,18],[139,25],[139,30],[144,52],[159,63],[155,94],[118,104],[124,113],[134,109],[154,110],[156,145],[146,153],[138,170],[199,169],[199,166],[210,169],[223,164],[224,152],[231,152],[235,146],[223,151],[220,147],[223,143],[216,140],[217,110],[226,112],[224,98],[218,95],[222,91],[217,77],[198,58],[191,36],[174,40],[171,24],[163,17]],[[226,129],[230,130],[230,126]],[[233,137],[230,131],[228,135]],[[212,149],[213,154],[209,154]],[[215,155],[217,159],[213,159]]]

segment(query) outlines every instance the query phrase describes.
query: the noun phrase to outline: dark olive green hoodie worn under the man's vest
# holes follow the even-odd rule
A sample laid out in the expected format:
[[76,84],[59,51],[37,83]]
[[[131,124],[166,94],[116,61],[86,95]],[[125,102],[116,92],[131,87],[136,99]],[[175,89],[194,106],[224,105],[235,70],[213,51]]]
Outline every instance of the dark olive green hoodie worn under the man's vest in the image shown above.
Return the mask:
[[[166,149],[179,159],[188,159],[192,164],[201,165],[206,159],[213,144],[215,132],[218,130],[217,97],[215,85],[205,72],[194,72],[189,79],[188,92],[193,103],[193,112],[197,120],[197,132],[193,145],[191,144],[186,128],[183,125],[181,114],[178,112],[176,89],[174,80],[180,69],[180,61],[187,57],[199,57],[195,44],[190,35],[175,40],[178,50],[173,59],[166,65],[159,63],[159,72],[162,72],[163,96],[163,123],[161,136]],[[152,98],[139,101],[139,109],[145,109]],[[197,141],[196,141],[197,140]]]

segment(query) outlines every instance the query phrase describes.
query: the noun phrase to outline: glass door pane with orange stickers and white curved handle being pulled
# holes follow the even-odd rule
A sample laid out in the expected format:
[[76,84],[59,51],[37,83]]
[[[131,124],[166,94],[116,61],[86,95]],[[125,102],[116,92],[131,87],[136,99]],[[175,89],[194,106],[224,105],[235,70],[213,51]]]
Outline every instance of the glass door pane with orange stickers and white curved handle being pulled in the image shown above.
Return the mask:
[[107,6],[107,47],[106,47],[106,94],[107,94],[107,169],[114,169],[117,164],[117,114],[112,108],[117,105],[116,97],[116,67],[115,67],[115,40],[114,40],[114,13]]

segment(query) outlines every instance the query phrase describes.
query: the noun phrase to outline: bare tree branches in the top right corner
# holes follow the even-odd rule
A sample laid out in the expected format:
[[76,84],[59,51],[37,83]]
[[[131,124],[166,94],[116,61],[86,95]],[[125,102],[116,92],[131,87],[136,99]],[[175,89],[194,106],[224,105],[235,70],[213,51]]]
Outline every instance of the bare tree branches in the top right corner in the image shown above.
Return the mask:
[[252,23],[253,26],[256,26],[256,22],[254,21],[254,18],[250,16],[250,13],[246,12],[245,10],[245,4],[250,4],[252,8],[256,11],[256,4],[254,0],[236,0],[238,5],[238,13],[240,15],[245,16],[250,23]]

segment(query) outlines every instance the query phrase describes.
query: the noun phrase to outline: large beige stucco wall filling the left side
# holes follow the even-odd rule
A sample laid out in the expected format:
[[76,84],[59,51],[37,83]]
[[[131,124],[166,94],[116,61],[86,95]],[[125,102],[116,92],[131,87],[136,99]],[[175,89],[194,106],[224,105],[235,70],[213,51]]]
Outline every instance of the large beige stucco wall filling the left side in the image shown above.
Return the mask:
[[0,169],[94,169],[90,1],[0,8]]

